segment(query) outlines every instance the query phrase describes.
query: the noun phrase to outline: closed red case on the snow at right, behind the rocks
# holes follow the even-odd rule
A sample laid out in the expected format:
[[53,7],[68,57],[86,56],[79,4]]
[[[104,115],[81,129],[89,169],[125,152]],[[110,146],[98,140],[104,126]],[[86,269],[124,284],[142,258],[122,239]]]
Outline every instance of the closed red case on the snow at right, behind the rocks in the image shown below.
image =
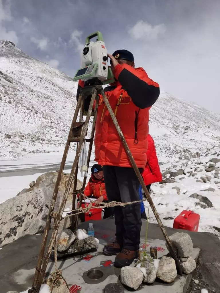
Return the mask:
[[174,219],[173,228],[197,232],[199,220],[199,214],[184,210]]

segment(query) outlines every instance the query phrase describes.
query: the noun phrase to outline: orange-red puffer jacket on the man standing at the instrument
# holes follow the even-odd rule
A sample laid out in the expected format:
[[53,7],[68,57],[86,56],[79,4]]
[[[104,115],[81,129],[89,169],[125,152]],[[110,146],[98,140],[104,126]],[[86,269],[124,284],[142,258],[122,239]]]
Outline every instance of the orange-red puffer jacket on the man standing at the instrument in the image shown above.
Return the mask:
[[[138,168],[145,168],[149,109],[157,100],[159,85],[143,68],[117,64],[115,86],[104,88],[111,108]],[[82,81],[79,86],[83,86]],[[95,161],[100,165],[132,167],[102,96],[95,128]]]

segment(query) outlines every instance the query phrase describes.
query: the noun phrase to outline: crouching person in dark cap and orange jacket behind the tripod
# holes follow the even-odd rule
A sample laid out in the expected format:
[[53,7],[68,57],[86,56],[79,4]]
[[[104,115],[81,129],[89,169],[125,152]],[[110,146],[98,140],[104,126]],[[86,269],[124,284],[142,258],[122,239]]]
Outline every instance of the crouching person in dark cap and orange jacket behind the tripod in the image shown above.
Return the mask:
[[[93,165],[91,168],[91,172],[92,172],[92,176],[90,177],[89,182],[87,183],[87,186],[83,192],[84,195],[86,195],[87,197],[91,199],[97,198],[96,200],[97,204],[99,202],[108,202],[108,198],[107,198],[106,190],[105,190],[105,182],[104,182],[102,166],[98,164]],[[109,218],[113,216],[113,214],[114,214],[113,208],[105,207],[103,219]]]

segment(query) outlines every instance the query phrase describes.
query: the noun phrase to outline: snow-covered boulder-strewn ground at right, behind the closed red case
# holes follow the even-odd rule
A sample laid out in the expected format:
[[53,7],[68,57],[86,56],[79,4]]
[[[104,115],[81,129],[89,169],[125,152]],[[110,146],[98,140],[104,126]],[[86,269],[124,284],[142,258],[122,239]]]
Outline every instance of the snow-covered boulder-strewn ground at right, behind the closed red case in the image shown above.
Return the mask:
[[[161,171],[163,181],[151,185],[151,197],[163,224],[172,227],[175,217],[191,210],[200,215],[199,231],[220,239],[220,146],[189,160],[164,164]],[[156,223],[151,209],[149,217]]]

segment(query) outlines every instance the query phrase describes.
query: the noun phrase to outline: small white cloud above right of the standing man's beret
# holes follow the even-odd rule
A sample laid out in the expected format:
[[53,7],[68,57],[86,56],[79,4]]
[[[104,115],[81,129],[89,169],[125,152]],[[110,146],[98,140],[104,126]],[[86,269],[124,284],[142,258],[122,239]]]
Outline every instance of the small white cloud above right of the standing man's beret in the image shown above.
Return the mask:
[[165,24],[151,25],[148,22],[139,20],[128,33],[135,40],[147,38],[148,40],[155,40],[166,31]]

